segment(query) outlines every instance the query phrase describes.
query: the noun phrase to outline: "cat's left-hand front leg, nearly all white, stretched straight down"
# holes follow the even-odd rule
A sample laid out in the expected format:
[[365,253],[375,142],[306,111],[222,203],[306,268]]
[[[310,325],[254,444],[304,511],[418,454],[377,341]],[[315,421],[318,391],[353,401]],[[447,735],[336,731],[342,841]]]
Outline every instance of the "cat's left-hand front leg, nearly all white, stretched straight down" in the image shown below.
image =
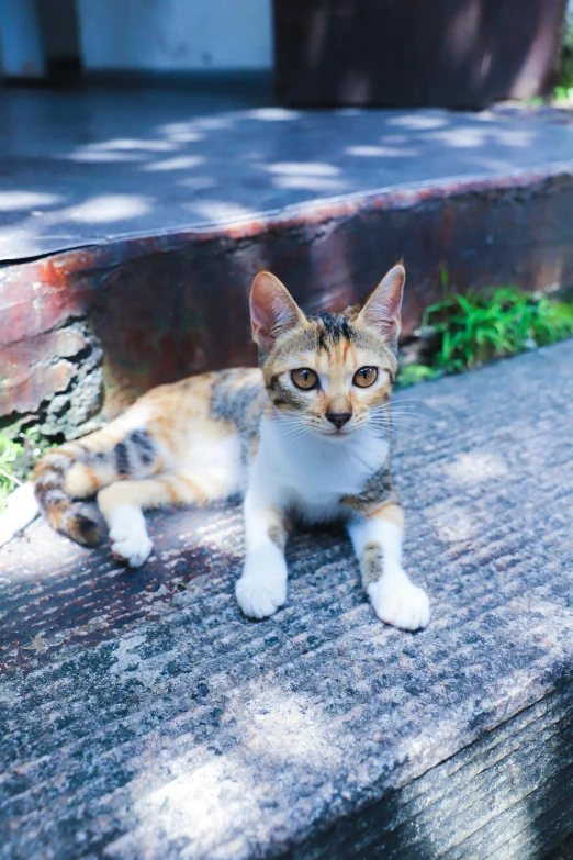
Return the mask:
[[245,541],[237,603],[249,618],[266,618],[286,600],[286,524],[281,511],[252,490],[245,496]]

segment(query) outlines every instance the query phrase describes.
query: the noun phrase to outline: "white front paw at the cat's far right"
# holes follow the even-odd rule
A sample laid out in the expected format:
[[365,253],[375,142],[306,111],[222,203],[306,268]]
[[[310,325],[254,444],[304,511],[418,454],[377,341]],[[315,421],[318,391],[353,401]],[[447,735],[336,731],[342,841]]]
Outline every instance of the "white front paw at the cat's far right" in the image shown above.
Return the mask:
[[368,596],[379,618],[403,630],[419,630],[427,627],[430,608],[428,595],[424,589],[414,585],[403,574],[400,581],[371,582]]

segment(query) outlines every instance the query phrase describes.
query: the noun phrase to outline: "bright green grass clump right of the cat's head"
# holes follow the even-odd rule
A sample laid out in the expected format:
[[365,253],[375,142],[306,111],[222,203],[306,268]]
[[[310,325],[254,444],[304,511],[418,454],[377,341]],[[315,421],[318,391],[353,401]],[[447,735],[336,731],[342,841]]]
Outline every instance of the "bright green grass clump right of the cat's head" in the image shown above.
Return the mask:
[[470,290],[430,305],[422,328],[436,342],[431,362],[403,368],[403,387],[571,337],[573,303],[516,287]]

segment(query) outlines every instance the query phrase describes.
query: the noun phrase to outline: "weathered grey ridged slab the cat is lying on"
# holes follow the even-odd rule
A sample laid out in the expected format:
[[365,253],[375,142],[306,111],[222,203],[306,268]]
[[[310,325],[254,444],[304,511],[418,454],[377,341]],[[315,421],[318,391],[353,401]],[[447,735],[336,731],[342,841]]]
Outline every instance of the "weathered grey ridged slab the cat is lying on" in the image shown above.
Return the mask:
[[543,857],[573,830],[572,364],[404,392],[419,634],[373,617],[337,532],[241,617],[236,505],[153,517],[137,572],[43,523],[2,548],[0,857]]

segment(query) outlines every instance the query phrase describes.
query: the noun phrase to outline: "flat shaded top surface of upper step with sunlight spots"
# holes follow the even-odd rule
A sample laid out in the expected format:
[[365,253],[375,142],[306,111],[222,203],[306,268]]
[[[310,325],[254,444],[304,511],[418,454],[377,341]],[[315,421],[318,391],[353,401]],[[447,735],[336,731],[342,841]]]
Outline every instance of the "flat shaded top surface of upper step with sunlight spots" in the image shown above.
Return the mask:
[[0,89],[0,260],[573,163],[564,111],[271,104],[265,88]]

